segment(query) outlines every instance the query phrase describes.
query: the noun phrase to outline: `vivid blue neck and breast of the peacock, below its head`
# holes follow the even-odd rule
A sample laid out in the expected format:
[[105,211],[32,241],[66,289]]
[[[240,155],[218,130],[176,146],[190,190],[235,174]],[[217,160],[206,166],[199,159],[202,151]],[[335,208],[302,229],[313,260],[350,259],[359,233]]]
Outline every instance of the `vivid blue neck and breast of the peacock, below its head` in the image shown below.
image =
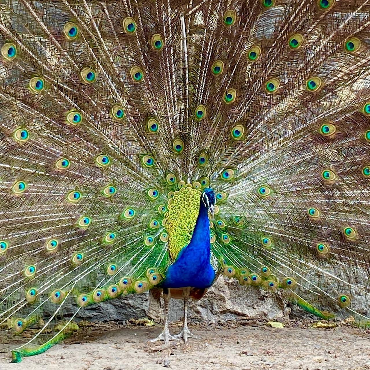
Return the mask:
[[215,272],[210,263],[210,246],[208,211],[201,201],[190,243],[181,250],[175,263],[169,266],[161,286],[164,288],[190,286],[201,289],[211,286]]

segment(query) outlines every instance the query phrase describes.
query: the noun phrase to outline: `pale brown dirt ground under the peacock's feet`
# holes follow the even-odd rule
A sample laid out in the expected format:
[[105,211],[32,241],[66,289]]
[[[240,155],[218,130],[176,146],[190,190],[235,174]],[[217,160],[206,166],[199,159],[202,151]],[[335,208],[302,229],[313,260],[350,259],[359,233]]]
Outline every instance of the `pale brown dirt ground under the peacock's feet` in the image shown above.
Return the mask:
[[[363,370],[370,369],[370,331],[349,326],[311,329],[311,323],[283,329],[265,322],[229,322],[190,326],[201,339],[147,343],[161,326],[124,327],[104,323],[80,329],[43,354],[9,362],[9,349],[0,346],[1,370]],[[180,323],[171,326],[179,332]]]

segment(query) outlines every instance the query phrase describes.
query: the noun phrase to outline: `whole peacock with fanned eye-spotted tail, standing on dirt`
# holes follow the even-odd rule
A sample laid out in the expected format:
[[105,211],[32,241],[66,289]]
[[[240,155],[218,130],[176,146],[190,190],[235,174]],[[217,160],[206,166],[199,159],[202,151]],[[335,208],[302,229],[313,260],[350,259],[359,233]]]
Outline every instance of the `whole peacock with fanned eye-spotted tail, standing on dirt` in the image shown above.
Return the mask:
[[220,276],[369,325],[369,0],[0,9],[0,326],[31,333],[14,362],[146,290],[153,341],[187,342]]

